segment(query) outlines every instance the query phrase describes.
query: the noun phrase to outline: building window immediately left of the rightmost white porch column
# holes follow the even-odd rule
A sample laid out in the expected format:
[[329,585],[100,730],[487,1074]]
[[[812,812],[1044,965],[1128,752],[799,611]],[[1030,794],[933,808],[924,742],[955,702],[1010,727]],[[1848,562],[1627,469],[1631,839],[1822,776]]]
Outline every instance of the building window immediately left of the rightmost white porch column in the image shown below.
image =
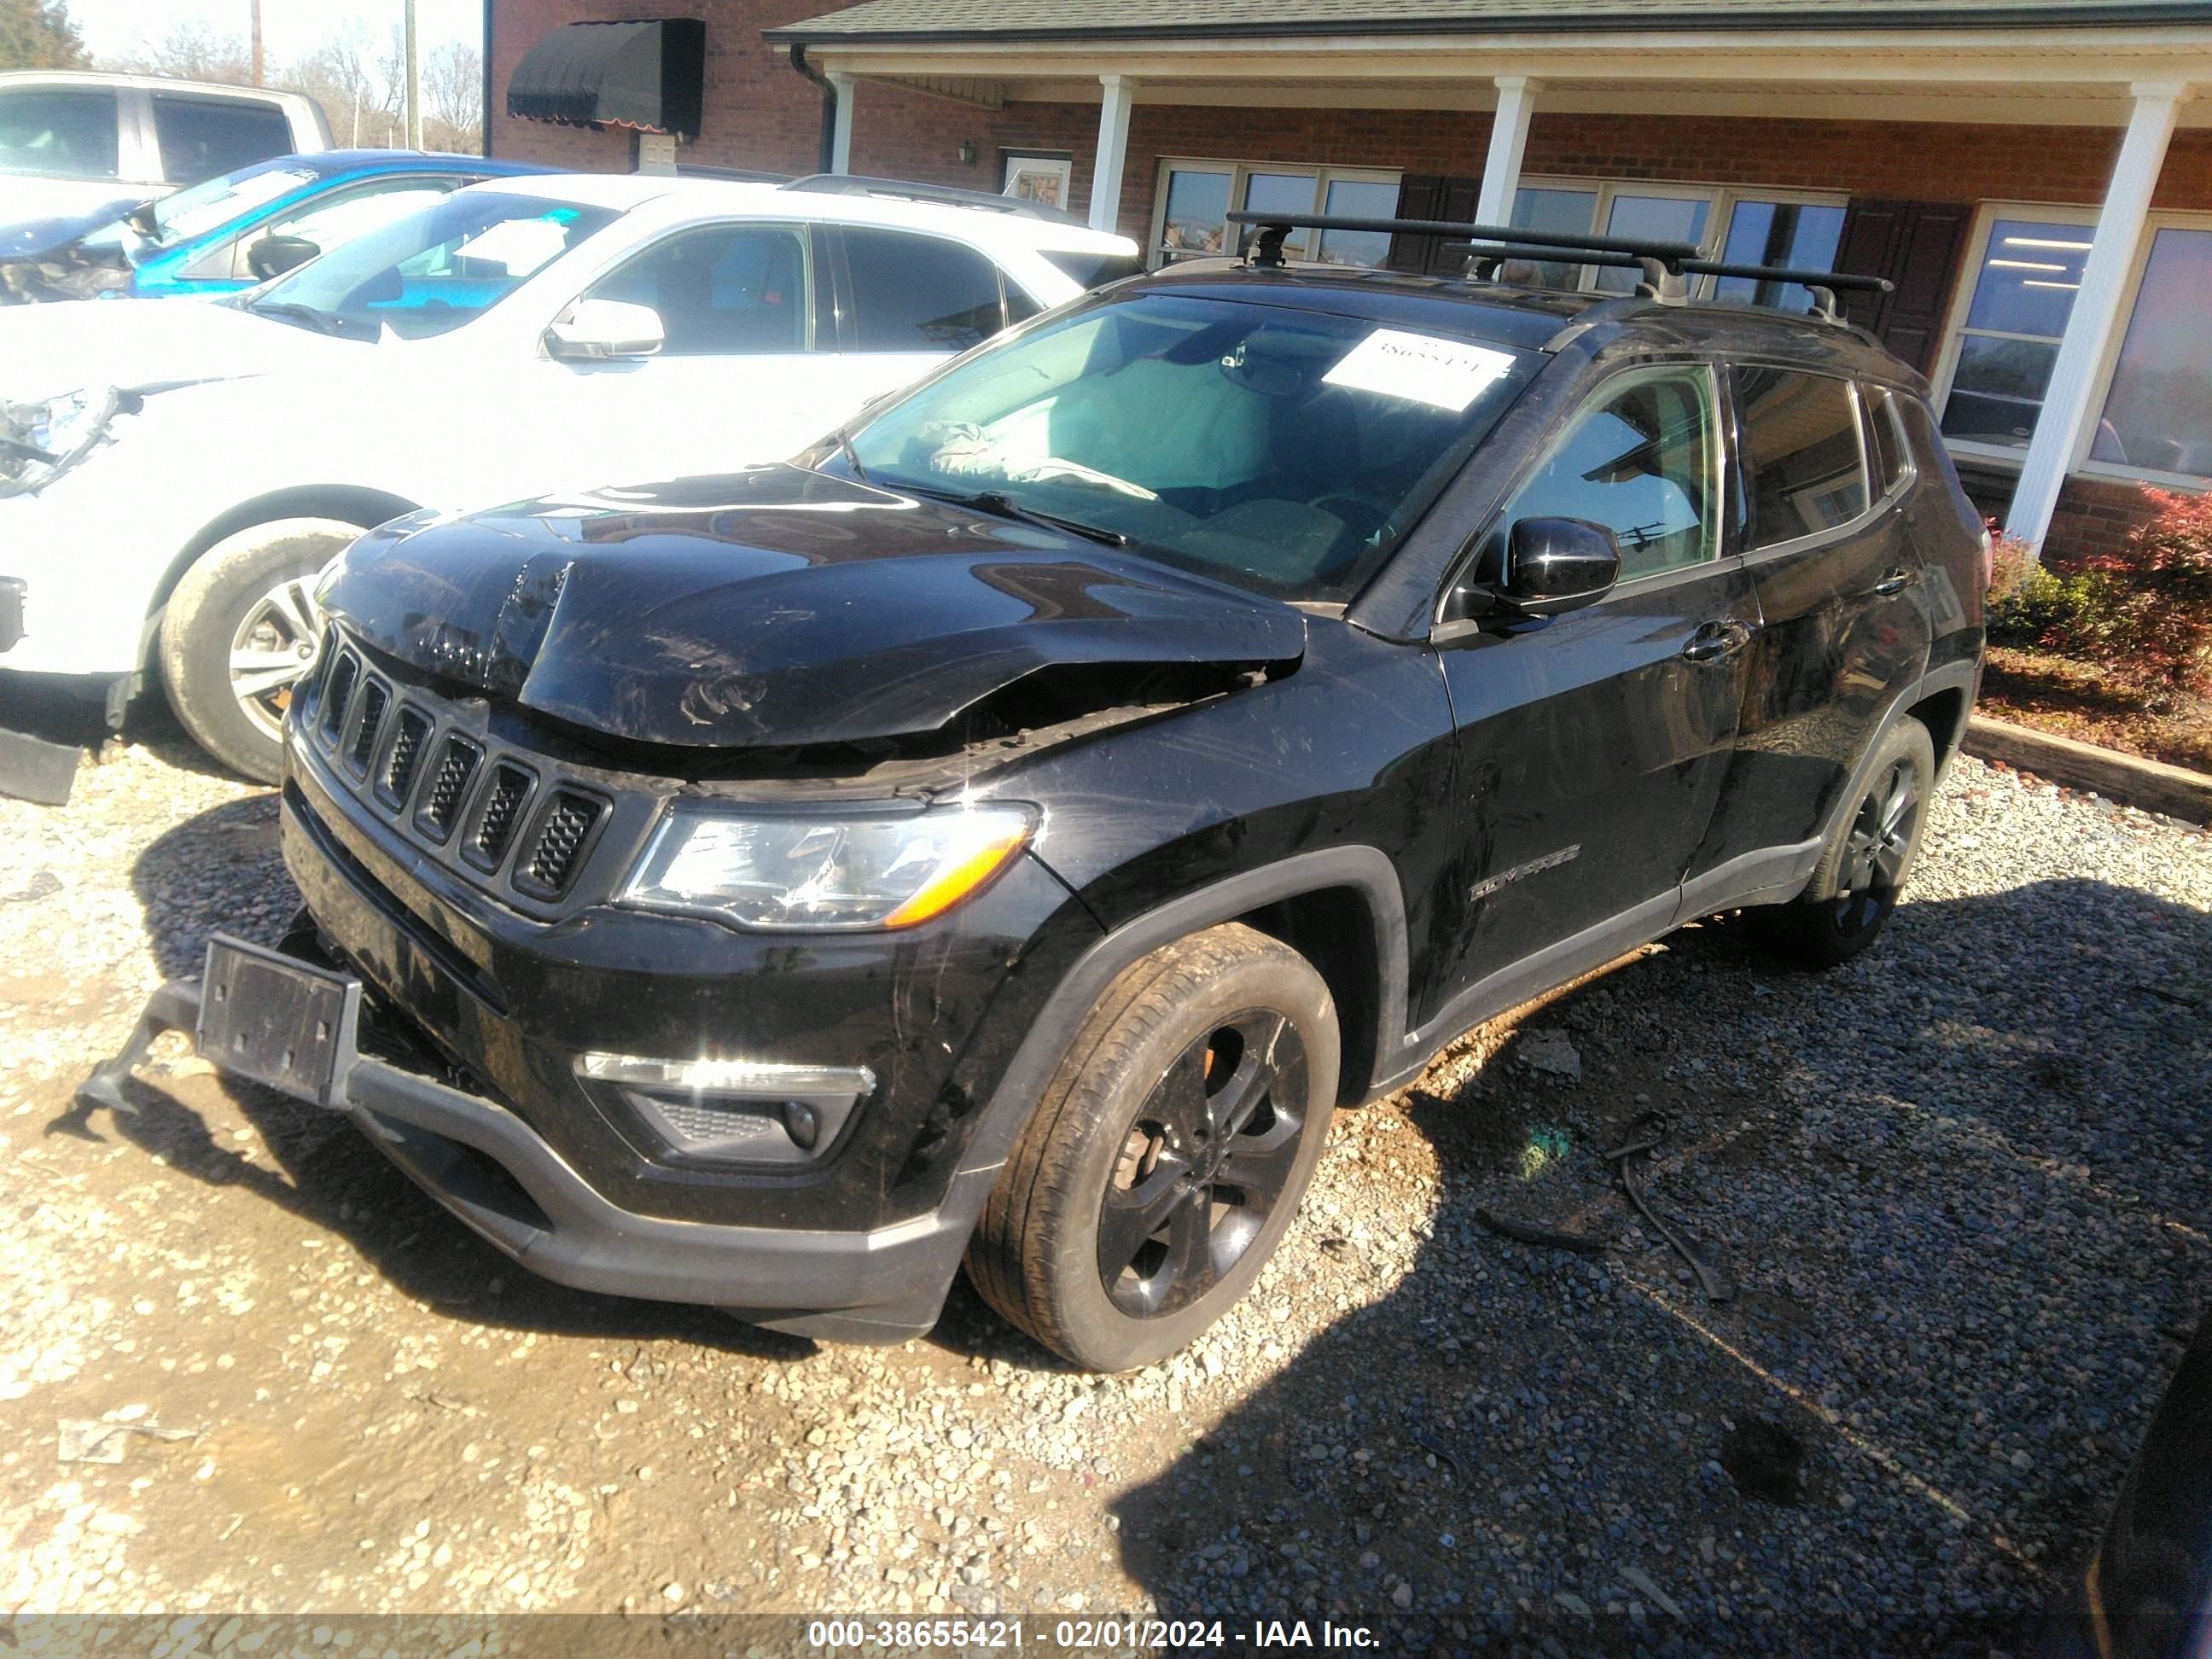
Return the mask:
[[1947,438],[2026,449],[2081,288],[2093,226],[1995,219],[1958,330]]

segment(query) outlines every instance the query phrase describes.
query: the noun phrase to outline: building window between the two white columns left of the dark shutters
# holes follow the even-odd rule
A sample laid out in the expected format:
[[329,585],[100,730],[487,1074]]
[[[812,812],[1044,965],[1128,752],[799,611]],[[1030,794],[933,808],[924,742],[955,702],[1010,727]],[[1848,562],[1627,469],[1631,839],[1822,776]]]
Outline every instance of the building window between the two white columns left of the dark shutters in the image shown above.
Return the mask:
[[[1398,212],[1398,175],[1365,168],[1305,168],[1272,161],[1164,161],[1159,168],[1155,263],[1237,252],[1230,208],[1318,212],[1336,219],[1389,219]],[[1389,234],[1380,230],[1294,230],[1285,259],[1329,265],[1380,265]]]

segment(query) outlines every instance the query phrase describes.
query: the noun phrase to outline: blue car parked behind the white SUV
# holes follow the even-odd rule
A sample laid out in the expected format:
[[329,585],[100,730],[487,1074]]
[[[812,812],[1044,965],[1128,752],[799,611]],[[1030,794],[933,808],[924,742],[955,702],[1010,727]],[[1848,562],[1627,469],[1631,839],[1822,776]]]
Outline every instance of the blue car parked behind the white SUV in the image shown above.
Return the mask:
[[181,299],[252,288],[480,179],[551,173],[416,150],[323,150],[124,210],[0,228],[0,303]]

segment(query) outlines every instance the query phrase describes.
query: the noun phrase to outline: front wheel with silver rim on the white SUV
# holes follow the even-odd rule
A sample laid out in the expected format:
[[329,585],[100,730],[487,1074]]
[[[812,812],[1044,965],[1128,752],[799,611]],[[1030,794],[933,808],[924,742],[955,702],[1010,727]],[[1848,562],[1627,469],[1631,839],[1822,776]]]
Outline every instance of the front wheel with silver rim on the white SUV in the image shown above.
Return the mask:
[[[283,774],[279,723],[323,633],[314,577],[358,535],[358,524],[330,518],[254,524],[201,553],[170,595],[161,617],[168,706],[232,772],[257,783]],[[252,659],[259,670],[243,672]]]

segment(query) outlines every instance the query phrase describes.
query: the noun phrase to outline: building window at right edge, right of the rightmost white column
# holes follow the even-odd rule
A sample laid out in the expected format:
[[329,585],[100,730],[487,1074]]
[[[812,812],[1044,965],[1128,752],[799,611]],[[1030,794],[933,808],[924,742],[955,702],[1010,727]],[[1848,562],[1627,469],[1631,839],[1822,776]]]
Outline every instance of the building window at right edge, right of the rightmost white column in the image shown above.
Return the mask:
[[2150,239],[2112,389],[2090,440],[2095,462],[2212,478],[2212,230],[2168,226]]

